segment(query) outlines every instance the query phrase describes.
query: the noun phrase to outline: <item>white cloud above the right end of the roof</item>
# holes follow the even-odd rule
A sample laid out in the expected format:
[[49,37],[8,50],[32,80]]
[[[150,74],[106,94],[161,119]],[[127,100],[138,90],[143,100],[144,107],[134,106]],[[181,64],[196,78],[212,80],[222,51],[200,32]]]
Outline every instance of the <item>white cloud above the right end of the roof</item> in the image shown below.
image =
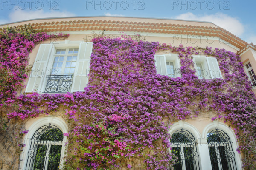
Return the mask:
[[244,25],[238,19],[223,13],[216,13],[211,15],[195,15],[191,12],[187,12],[175,16],[175,19],[212,22],[217,26],[226,29],[232,34],[235,34],[236,36],[241,36],[245,29]]

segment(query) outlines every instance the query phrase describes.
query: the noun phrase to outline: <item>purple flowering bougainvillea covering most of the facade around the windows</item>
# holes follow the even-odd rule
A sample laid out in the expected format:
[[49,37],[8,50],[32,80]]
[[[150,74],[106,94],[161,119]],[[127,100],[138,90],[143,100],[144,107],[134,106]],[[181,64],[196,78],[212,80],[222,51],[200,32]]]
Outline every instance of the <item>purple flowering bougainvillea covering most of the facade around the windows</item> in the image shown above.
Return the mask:
[[[36,42],[45,40],[47,35],[38,33],[38,37]],[[12,49],[12,40],[6,39],[7,42],[10,45],[6,45],[6,50],[1,45],[2,51]],[[27,37],[15,42],[15,47],[24,45],[3,55],[1,65],[11,63],[13,57],[7,56],[19,55],[19,62],[24,63],[12,71],[22,73],[18,79],[21,83],[26,77],[27,56],[34,47],[27,43],[36,42]],[[256,102],[238,55],[218,48],[172,47],[134,41],[127,36],[98,37],[92,42],[90,80],[83,92],[16,97],[16,87],[22,84],[15,84],[16,80],[8,77],[1,80],[6,87],[15,87],[1,91],[12,94],[11,98],[2,96],[2,108],[18,106],[7,113],[9,119],[22,122],[55,112],[66,117],[71,128],[64,134],[68,138],[65,169],[168,169],[176,161],[168,150],[171,137],[167,132],[171,126],[168,122],[190,119],[207,111],[218,115],[212,120],[224,119],[235,129],[244,169],[256,168]],[[156,51],[179,54],[181,78],[156,74]],[[193,54],[216,57],[223,79],[198,79]]]

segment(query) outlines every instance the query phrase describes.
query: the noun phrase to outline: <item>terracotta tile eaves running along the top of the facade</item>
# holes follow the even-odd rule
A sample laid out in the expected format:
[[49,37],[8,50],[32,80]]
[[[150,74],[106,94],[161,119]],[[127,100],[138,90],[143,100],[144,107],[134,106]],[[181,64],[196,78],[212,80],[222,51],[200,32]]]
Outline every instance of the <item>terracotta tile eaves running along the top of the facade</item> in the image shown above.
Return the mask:
[[[40,21],[40,20],[38,20]],[[196,26],[172,23],[156,22],[133,22],[120,20],[70,20],[32,23],[33,28],[49,32],[54,31],[85,31],[85,30],[108,30],[108,31],[136,31],[149,33],[166,34],[188,34],[202,36],[223,36],[222,40],[229,42],[240,49],[238,53],[244,51],[247,42],[230,33],[229,31],[212,26]],[[256,49],[256,45],[251,44],[251,48]]]

